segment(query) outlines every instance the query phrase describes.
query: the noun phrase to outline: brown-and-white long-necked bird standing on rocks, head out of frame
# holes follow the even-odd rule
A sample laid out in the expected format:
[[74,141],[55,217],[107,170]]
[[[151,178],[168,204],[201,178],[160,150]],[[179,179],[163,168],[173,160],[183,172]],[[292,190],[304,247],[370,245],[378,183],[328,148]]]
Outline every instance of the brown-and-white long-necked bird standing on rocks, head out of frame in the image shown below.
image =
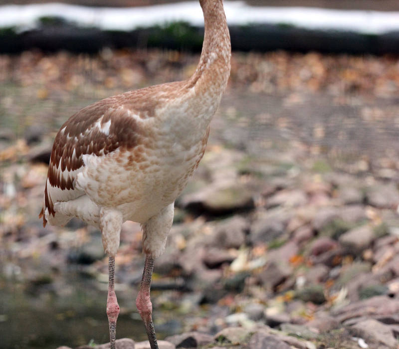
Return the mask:
[[58,131],[39,217],[64,225],[72,217],[101,229],[109,256],[107,316],[115,349],[119,306],[115,255],[122,223],[142,224],[145,263],[137,309],[158,348],[150,285],[172,226],[174,202],[198,167],[209,123],[230,74],[230,36],[222,0],[200,0],[205,33],[200,62],[185,81],[109,97],[72,115]]

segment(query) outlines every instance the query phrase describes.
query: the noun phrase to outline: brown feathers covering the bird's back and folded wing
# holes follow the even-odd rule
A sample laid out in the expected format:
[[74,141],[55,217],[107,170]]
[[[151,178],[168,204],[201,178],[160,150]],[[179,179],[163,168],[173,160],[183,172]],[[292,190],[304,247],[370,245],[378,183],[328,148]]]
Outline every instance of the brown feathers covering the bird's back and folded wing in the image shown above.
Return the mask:
[[[83,155],[104,156],[118,148],[130,150],[136,147],[140,143],[143,130],[132,114],[140,119],[154,117],[158,105],[165,98],[179,93],[180,86],[183,87],[184,83],[173,82],[103,99],[81,109],[61,126],[50,157],[47,174],[50,186],[46,182],[44,204],[39,215],[43,217],[43,225],[46,224],[46,209],[55,216],[54,202],[81,195],[76,193],[75,196],[71,191],[76,191],[73,180],[84,166]],[[100,127],[96,127],[100,119]],[[109,121],[108,132],[102,132],[101,128]],[[55,188],[61,189],[65,195],[58,192],[55,197]]]

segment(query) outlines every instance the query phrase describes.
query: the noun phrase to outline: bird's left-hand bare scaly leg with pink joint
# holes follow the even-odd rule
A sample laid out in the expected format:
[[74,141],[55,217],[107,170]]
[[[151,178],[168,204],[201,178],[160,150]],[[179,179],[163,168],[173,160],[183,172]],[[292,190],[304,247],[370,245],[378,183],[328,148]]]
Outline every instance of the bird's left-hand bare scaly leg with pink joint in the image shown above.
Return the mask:
[[119,315],[119,305],[114,291],[115,280],[115,257],[109,256],[108,259],[108,297],[107,297],[107,316],[109,325],[109,338],[111,349],[115,349],[116,341],[116,320]]

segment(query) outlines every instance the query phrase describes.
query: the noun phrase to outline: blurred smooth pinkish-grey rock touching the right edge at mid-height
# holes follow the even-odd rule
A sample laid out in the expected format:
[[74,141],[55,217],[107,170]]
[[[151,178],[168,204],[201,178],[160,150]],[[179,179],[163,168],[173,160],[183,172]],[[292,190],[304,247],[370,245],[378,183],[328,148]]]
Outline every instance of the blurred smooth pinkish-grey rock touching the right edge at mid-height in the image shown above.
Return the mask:
[[394,183],[376,184],[366,191],[367,202],[378,208],[396,208],[399,204],[399,192]]

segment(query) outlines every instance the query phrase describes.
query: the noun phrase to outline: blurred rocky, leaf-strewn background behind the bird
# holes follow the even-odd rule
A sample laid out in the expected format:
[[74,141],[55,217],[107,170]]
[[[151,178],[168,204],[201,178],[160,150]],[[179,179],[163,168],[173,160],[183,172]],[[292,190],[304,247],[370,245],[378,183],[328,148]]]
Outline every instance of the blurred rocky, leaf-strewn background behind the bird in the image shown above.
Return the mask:
[[[369,348],[394,348],[398,1],[224,3],[231,75],[156,261],[158,336],[267,325],[310,343],[296,348],[367,348],[366,328]],[[0,348],[104,343],[100,231],[38,219],[52,141],[96,100],[190,77],[200,5],[1,0],[0,18]],[[141,249],[140,225],[126,222],[117,336],[135,341],[146,339]]]

